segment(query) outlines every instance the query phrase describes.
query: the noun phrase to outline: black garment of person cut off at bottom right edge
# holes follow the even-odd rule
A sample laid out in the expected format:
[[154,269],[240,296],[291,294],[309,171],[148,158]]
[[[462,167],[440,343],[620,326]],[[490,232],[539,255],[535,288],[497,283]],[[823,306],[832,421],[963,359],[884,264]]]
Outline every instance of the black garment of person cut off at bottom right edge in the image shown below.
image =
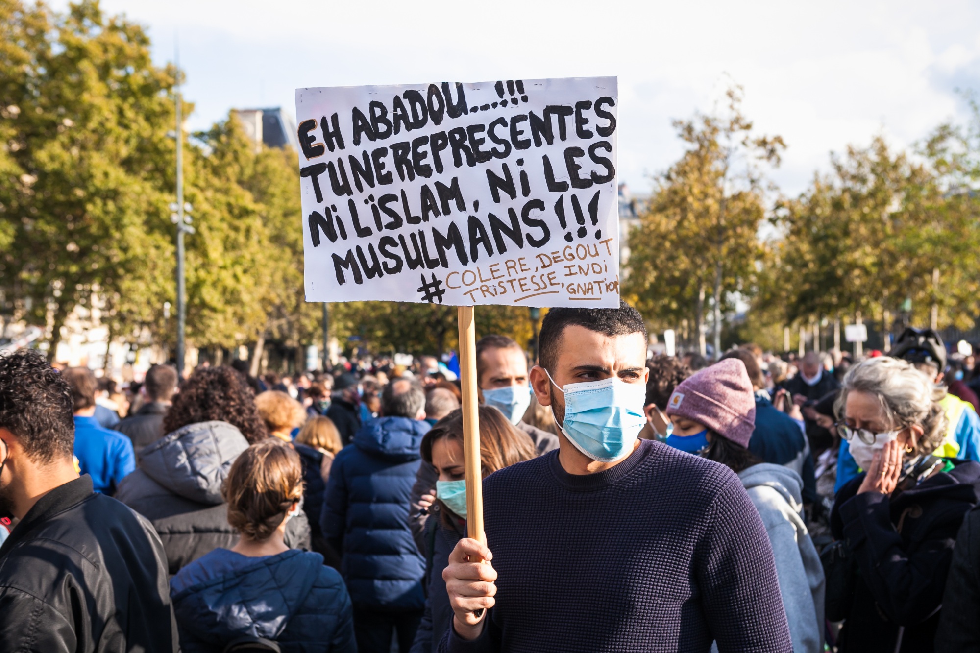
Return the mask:
[[936,650],[980,651],[980,508],[966,514],[956,535],[943,605],[951,609],[940,615]]

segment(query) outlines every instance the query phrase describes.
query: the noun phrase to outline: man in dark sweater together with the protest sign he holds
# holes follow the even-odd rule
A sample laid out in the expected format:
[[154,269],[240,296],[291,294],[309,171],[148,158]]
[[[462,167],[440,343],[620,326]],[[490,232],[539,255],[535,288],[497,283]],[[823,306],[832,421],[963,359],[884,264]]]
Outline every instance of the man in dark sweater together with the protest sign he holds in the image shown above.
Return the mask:
[[[790,650],[742,483],[636,437],[647,334],[619,301],[616,78],[300,88],[296,113],[307,300],[460,307],[474,538],[443,575],[441,646]],[[487,478],[485,528],[482,304],[552,308],[530,380],[564,429],[559,451]]]

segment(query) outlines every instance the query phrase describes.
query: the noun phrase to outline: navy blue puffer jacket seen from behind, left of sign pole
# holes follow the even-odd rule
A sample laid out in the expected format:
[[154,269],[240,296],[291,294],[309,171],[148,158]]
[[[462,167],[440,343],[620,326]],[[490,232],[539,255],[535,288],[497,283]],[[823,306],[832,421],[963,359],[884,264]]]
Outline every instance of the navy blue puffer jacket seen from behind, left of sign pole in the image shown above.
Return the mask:
[[320,526],[343,552],[341,571],[357,606],[401,612],[425,603],[425,563],[409,528],[409,507],[428,429],[418,420],[378,418],[333,460]]

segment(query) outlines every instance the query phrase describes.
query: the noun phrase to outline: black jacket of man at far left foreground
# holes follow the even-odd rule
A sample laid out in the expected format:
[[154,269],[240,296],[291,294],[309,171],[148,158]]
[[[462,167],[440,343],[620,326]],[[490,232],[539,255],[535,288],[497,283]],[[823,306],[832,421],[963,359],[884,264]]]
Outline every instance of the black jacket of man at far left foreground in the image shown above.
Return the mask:
[[87,475],[42,496],[0,547],[0,649],[175,653],[153,527]]

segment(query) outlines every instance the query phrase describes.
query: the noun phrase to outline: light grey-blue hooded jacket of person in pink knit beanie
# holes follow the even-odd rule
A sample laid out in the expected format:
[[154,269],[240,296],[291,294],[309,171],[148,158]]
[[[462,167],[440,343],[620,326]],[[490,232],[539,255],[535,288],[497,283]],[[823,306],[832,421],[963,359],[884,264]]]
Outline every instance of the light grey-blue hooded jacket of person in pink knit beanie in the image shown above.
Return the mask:
[[824,578],[820,557],[801,517],[803,480],[796,472],[769,463],[753,465],[738,477],[772,545],[793,650],[818,653],[823,650]]

